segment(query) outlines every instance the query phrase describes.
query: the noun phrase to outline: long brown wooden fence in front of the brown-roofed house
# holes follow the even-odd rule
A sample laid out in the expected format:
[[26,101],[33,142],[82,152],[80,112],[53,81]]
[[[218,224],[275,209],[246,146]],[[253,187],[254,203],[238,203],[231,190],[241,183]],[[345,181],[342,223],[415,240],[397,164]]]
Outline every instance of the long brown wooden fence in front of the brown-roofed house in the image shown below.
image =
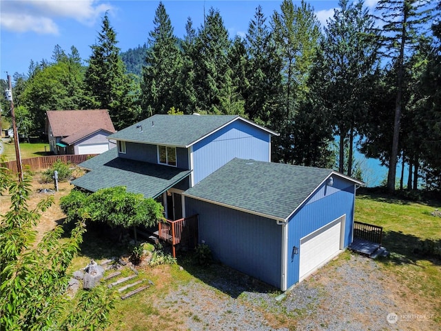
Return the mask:
[[[23,166],[23,170],[28,165],[31,171],[37,171],[42,169],[48,169],[52,167],[57,160],[61,160],[64,163],[73,163],[79,164],[81,162],[90,159],[90,157],[94,157],[97,154],[81,154],[81,155],[50,155],[49,157],[33,157],[32,159],[23,159],[21,160],[21,165]],[[17,161],[8,161],[1,163],[3,167],[6,167],[12,172],[17,173]]]

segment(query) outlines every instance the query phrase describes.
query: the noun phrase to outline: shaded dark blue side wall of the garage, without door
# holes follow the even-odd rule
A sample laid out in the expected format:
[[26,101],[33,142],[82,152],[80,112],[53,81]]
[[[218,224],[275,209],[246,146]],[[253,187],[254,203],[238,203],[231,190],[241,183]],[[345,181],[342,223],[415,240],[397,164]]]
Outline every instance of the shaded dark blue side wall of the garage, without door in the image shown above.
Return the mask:
[[215,259],[280,288],[281,225],[188,197],[185,212],[199,214],[199,242],[209,245]]

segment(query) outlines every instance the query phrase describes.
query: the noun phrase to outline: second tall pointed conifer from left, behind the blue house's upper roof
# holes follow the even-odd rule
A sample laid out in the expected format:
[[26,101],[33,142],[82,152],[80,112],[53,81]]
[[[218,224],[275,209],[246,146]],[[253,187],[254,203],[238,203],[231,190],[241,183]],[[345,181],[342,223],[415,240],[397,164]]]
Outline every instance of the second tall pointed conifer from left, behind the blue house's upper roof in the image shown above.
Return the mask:
[[176,81],[182,59],[170,17],[162,2],[156,8],[154,30],[150,32],[149,42],[141,83],[143,112],[146,116],[167,114],[170,108],[176,106]]

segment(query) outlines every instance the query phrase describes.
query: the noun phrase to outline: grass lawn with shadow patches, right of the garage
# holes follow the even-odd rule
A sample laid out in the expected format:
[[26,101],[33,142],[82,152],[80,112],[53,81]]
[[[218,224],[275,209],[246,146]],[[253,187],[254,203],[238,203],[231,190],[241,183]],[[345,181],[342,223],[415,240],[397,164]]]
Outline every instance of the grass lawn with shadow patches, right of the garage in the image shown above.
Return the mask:
[[415,251],[429,239],[441,250],[441,217],[430,214],[435,209],[441,209],[440,201],[415,203],[377,194],[360,195],[355,219],[383,227],[382,244],[391,256],[379,260],[382,268],[399,281],[395,286],[403,299],[433,307],[434,318],[441,323],[441,261]]

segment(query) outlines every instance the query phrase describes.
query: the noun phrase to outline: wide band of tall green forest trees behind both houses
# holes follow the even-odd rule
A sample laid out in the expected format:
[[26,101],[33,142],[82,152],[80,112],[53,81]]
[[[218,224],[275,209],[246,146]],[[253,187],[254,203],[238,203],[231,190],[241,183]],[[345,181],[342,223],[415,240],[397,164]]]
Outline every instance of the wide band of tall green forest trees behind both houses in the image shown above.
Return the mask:
[[285,0],[270,17],[256,8],[245,37],[210,8],[182,39],[166,5],[143,46],[121,53],[105,15],[86,61],[55,46],[15,74],[21,133],[41,134],[54,109],[105,108],[117,130],[152,114],[239,114],[280,132],[275,162],[362,179],[357,149],[389,168],[390,192],[441,190],[441,1],[380,0],[369,12],[340,0],[321,26],[314,1]]

